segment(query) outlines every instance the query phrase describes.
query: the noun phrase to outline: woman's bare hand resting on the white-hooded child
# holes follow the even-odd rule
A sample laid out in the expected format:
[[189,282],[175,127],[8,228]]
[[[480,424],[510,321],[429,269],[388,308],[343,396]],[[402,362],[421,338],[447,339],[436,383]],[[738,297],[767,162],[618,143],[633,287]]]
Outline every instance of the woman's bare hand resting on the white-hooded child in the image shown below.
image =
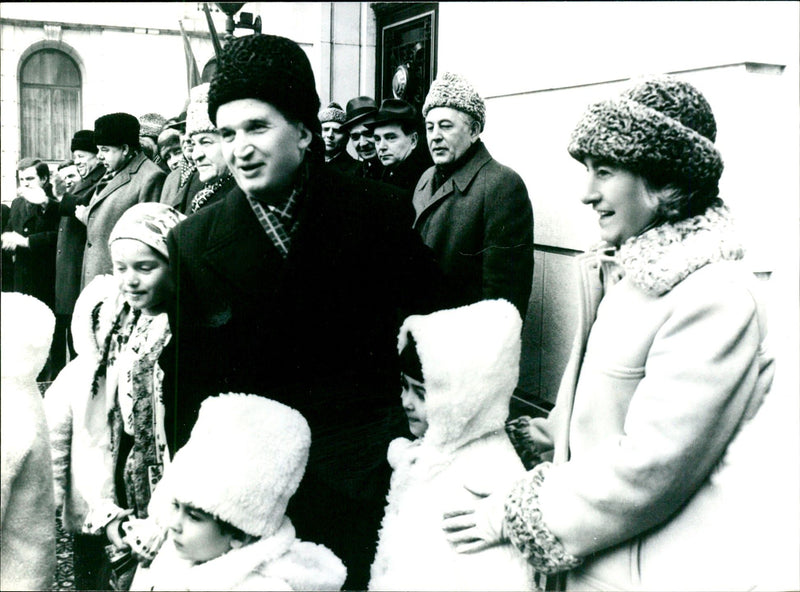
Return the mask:
[[464,488],[475,496],[472,504],[445,512],[442,529],[447,541],[458,553],[475,553],[505,541],[503,519],[505,518],[506,488],[492,494]]

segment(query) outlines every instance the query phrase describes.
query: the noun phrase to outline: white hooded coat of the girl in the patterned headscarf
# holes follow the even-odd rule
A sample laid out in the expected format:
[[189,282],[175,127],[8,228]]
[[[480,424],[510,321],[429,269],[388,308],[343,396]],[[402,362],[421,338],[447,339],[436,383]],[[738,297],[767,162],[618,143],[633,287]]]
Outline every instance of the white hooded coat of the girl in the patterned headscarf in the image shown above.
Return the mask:
[[62,522],[68,532],[81,532],[90,507],[103,507],[104,516],[110,512],[105,523],[121,511],[114,505],[115,457],[108,420],[114,401],[104,396],[104,376],[100,377],[98,395],[91,396],[99,352],[120,305],[119,286],[113,276],[98,276],[81,292],[72,318],[78,355],[45,393],[55,499],[57,507],[62,508]]

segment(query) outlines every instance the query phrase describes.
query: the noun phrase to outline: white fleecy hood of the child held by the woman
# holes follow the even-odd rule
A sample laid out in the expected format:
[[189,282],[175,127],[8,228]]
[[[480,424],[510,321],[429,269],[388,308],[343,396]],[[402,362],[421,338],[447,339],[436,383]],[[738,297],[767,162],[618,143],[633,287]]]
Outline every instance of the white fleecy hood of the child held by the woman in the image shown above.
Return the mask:
[[519,378],[521,331],[519,312],[502,299],[405,320],[398,351],[411,333],[427,391],[426,446],[457,448],[503,428]]

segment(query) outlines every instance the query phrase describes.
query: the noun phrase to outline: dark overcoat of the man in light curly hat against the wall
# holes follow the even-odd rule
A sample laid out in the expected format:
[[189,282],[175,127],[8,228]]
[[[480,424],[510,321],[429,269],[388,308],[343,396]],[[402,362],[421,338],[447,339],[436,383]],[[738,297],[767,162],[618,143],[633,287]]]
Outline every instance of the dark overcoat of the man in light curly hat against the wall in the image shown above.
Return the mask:
[[505,298],[525,318],[533,283],[533,209],[525,183],[483,144],[433,191],[435,170],[425,171],[414,191],[414,228],[445,273],[449,306]]

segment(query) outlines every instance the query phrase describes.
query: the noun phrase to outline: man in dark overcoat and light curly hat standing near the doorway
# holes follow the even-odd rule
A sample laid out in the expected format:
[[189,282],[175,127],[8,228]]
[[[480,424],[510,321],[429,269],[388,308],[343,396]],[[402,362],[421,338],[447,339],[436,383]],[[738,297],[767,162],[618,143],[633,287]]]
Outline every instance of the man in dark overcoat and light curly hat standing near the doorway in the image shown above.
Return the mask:
[[522,178],[480,139],[486,108],[462,77],[434,81],[422,107],[434,166],[414,191],[416,228],[436,253],[451,306],[505,298],[525,318],[533,281],[533,209]]

